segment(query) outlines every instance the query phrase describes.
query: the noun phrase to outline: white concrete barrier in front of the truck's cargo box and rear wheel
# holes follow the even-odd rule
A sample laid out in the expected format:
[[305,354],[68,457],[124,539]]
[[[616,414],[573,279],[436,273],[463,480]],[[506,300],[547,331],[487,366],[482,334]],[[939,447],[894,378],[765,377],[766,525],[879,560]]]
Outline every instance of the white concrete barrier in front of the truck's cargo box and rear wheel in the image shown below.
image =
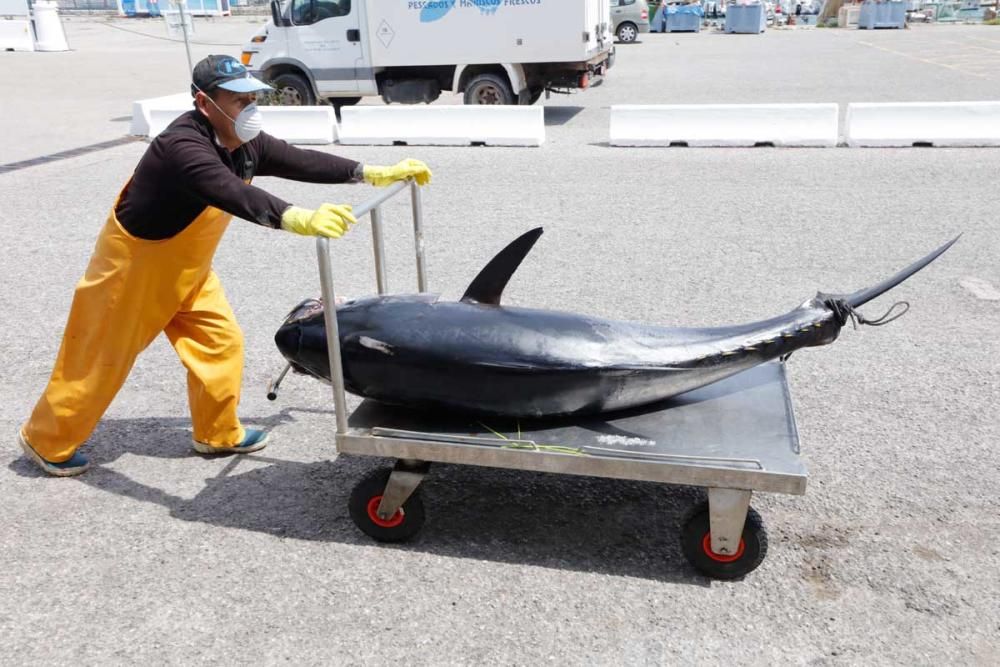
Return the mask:
[[540,106],[360,106],[340,110],[340,143],[541,146]]

